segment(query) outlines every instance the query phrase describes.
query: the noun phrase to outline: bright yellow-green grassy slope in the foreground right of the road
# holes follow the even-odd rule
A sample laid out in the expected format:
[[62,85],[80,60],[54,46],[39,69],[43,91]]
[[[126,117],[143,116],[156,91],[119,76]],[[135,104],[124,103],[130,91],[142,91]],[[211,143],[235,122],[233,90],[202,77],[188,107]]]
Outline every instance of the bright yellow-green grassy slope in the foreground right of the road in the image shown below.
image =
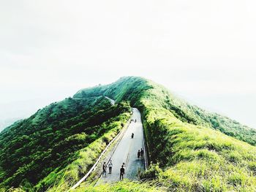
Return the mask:
[[151,159],[165,168],[158,179],[170,190],[256,191],[252,145],[182,123],[170,112],[151,110],[145,118]]

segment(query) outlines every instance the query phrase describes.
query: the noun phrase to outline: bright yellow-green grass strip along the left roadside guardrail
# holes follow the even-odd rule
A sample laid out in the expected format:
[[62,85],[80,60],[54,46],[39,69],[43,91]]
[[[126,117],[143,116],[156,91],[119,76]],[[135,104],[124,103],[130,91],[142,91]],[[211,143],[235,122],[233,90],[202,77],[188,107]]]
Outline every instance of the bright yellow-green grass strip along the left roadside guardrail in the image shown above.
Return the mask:
[[45,177],[36,186],[36,191],[45,191],[45,185],[53,184],[48,191],[67,191],[72,185],[80,180],[91,166],[94,165],[95,161],[99,157],[100,153],[105,149],[108,143],[116,137],[116,134],[121,130],[124,123],[129,119],[129,113],[120,115],[119,120],[115,120],[110,123],[110,127],[113,127],[104,134],[102,137],[92,142],[88,147],[78,152],[78,158],[69,164],[67,167],[62,169],[60,172],[51,172],[48,177]]

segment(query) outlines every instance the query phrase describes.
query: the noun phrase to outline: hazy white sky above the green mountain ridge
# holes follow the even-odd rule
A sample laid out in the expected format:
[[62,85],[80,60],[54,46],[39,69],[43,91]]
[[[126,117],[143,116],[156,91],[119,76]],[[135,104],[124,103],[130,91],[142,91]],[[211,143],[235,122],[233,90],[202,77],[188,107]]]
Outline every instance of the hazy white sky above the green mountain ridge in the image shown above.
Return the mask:
[[255,0],[1,0],[0,116],[135,75],[256,128],[255,9]]

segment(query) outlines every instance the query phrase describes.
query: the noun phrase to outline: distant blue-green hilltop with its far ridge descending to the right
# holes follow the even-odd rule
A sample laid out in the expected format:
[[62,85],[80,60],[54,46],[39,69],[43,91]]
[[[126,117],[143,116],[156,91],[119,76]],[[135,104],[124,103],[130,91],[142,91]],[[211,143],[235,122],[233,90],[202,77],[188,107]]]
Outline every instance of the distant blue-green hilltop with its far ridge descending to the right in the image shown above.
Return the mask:
[[[236,139],[256,145],[256,129],[241,125],[236,120],[231,120],[216,113],[207,112],[195,105],[188,104],[178,99],[166,88],[141,77],[122,77],[110,85],[86,88],[75,94],[76,98],[86,96],[99,96],[105,94],[116,101],[130,101],[135,107],[143,110],[142,101],[157,104],[184,123],[214,128]],[[157,99],[156,99],[157,97]],[[157,102],[157,103],[155,103]]]

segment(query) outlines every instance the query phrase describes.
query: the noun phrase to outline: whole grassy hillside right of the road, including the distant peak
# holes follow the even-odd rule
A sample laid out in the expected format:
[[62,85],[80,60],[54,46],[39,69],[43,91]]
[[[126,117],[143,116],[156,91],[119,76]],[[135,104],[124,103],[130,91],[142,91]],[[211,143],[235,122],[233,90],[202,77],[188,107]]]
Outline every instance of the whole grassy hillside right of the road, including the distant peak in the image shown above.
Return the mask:
[[[160,168],[152,166],[141,177],[157,180],[169,191],[256,191],[254,129],[200,110],[139,77],[91,93],[130,101],[143,113],[150,160]],[[80,96],[83,91],[75,95]]]

